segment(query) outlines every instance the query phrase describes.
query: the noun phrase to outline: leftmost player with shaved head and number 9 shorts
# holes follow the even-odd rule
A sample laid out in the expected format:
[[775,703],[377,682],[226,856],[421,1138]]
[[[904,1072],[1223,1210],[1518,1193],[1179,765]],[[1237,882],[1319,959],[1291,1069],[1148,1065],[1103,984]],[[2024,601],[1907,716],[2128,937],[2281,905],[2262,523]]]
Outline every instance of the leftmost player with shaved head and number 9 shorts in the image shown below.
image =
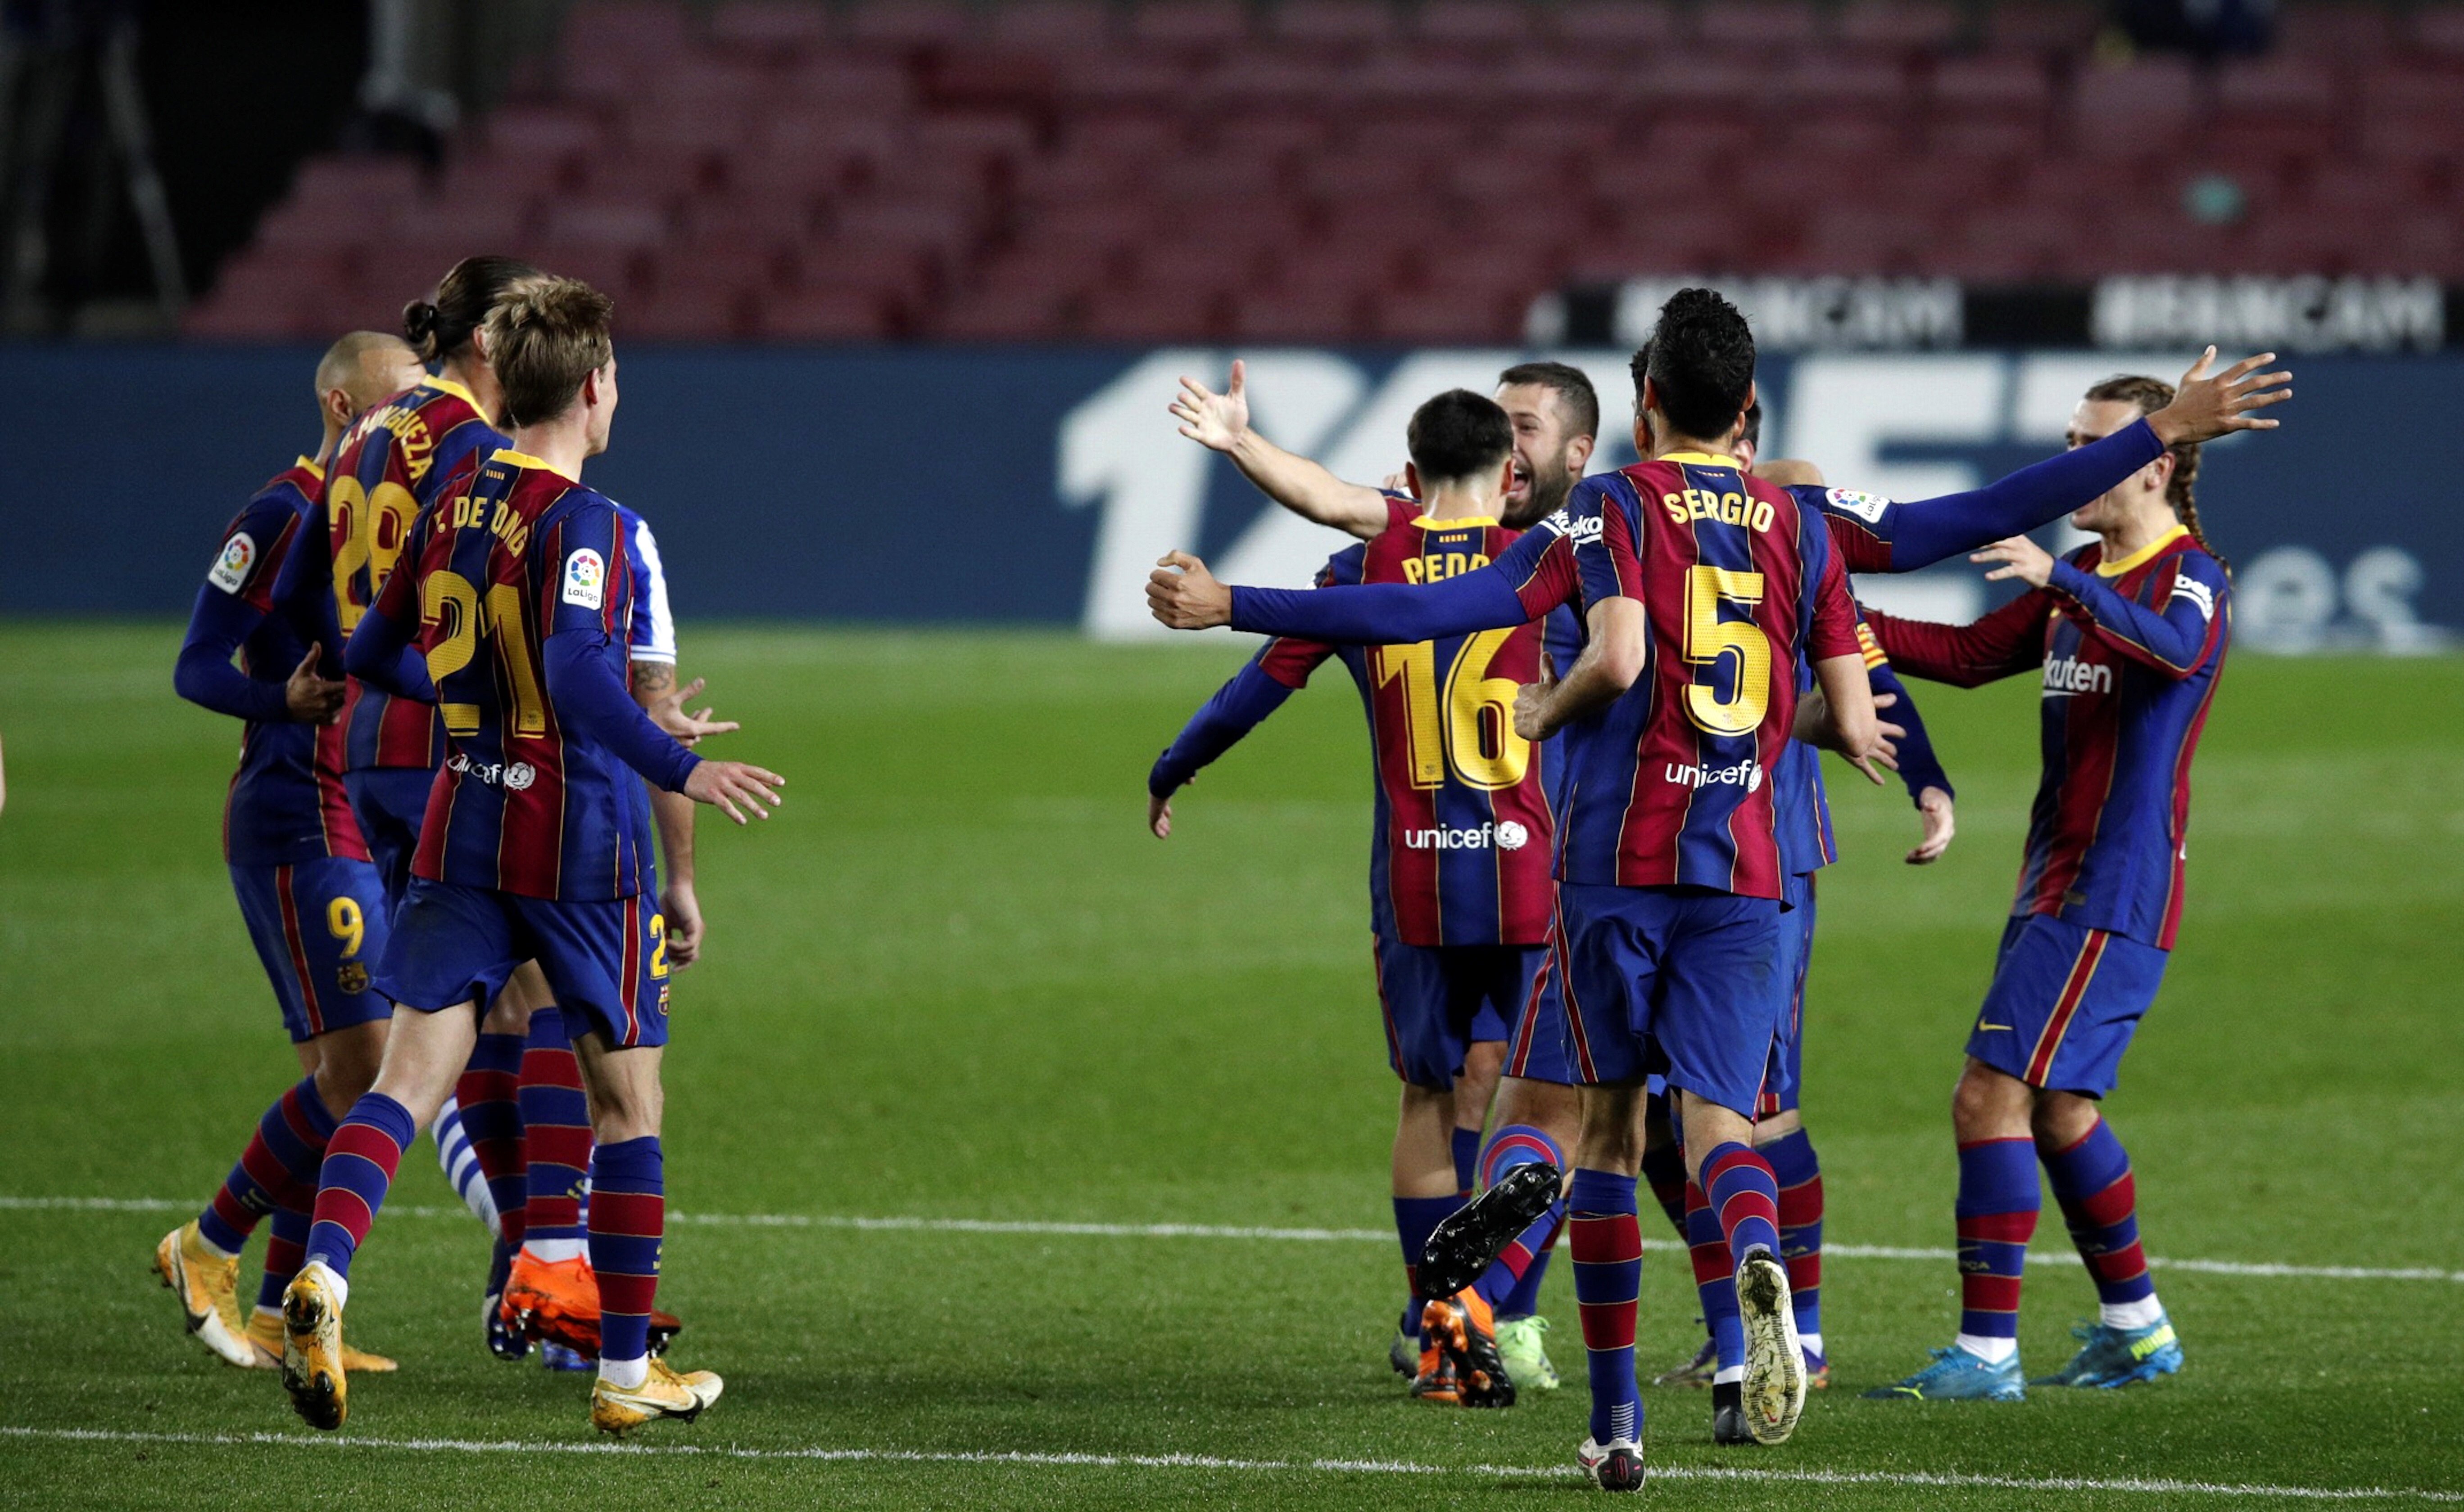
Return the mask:
[[[276,1305],[308,1239],[315,1170],[335,1120],[375,1081],[392,1017],[392,1005],[367,985],[367,968],[384,951],[387,911],[342,795],[333,726],[342,685],[318,677],[315,648],[271,613],[274,581],[298,544],[342,426],[416,377],[419,362],[397,337],[355,330],[328,347],[315,367],[325,438],[222,529],[172,672],[180,697],[244,722],[222,810],[222,859],[306,1074],[259,1118],[205,1212],[155,1246],[155,1273],[180,1300],[187,1332],[249,1369],[281,1359]],[[274,1234],[264,1281],[254,1315],[241,1322],[239,1251],[266,1216]],[[392,1369],[392,1362],[357,1354],[352,1367]]]

